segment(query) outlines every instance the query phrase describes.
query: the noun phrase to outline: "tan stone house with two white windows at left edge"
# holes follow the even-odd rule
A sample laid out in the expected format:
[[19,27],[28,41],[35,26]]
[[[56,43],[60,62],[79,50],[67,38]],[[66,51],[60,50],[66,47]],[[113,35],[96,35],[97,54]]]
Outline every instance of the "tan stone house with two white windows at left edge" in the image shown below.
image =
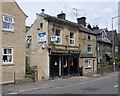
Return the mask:
[[2,1],[0,14],[2,30],[2,84],[23,80],[25,75],[25,20],[26,14],[15,0]]

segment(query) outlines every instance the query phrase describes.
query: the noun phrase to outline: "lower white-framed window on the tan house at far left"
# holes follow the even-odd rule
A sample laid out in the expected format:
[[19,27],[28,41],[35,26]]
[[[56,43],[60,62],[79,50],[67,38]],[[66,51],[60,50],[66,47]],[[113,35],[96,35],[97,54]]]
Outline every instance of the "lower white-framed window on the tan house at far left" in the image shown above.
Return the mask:
[[12,64],[13,63],[13,48],[3,48],[2,59],[3,59],[3,64]]

